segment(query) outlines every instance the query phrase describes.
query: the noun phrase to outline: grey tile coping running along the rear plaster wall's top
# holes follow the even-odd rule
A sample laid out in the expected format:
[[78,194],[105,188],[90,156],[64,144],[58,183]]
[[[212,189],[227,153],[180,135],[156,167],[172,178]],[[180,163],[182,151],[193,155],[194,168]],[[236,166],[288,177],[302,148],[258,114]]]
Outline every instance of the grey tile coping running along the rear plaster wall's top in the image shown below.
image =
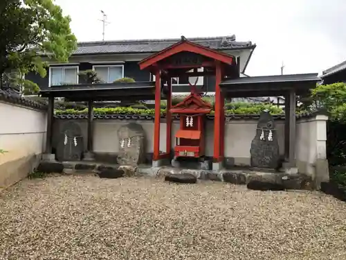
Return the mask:
[[[300,118],[309,118],[315,116],[316,114],[325,114],[325,112],[312,112],[305,114],[298,114],[297,119]],[[56,119],[87,119],[87,114],[57,114],[55,115]],[[207,119],[214,120],[215,116],[212,114],[207,115]],[[118,120],[150,120],[154,121],[155,116],[153,114],[94,114],[93,119],[118,119]],[[165,119],[165,116],[161,116],[161,119]],[[179,119],[179,116],[172,116],[173,120]],[[226,115],[226,121],[229,120],[258,120],[260,119],[259,114],[231,114]],[[280,120],[284,119],[284,114],[274,114],[273,119]]]

